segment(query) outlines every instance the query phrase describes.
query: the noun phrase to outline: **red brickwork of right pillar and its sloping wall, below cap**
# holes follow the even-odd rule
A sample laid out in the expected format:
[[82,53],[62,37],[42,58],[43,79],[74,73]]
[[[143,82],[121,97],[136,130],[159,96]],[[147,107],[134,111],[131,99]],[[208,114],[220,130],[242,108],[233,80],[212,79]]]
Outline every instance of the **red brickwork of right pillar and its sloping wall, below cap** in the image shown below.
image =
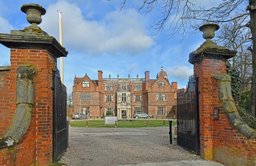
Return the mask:
[[[226,74],[225,62],[204,59],[194,64],[194,72],[199,77],[201,156],[226,165],[255,165],[256,140],[246,138],[229,123],[220,101],[218,80],[211,78],[211,74]],[[216,108],[220,109],[219,120],[215,119]]]

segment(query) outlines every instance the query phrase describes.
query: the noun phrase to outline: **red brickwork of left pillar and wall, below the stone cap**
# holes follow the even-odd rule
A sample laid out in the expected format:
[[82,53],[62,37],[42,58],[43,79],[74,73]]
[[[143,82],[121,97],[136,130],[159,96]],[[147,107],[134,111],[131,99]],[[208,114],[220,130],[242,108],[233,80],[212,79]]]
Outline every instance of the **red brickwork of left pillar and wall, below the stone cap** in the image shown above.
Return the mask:
[[16,107],[16,68],[26,64],[32,64],[37,71],[31,123],[15,147],[0,151],[0,161],[7,165],[49,165],[52,162],[52,69],[56,57],[46,50],[11,49],[10,110],[13,113]]

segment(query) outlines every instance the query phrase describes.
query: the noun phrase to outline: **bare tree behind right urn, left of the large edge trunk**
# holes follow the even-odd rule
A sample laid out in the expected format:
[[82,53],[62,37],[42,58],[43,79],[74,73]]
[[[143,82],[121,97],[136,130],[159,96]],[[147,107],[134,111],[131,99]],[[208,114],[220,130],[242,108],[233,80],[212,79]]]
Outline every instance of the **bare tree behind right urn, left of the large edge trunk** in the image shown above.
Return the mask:
[[251,33],[249,28],[240,27],[241,19],[234,19],[221,27],[215,40],[219,45],[224,45],[230,50],[237,51],[236,56],[232,58],[231,65],[233,70],[240,73],[241,82],[250,82],[251,80]]

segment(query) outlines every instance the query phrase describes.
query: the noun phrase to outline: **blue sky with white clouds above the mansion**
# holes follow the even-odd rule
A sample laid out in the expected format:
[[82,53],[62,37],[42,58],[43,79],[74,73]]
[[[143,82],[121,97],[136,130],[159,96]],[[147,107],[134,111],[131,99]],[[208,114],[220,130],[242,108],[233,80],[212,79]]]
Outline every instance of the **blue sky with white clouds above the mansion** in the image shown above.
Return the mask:
[[[220,0],[197,0],[200,5],[210,6]],[[204,42],[202,33],[168,37],[169,27],[156,34],[150,25],[160,18],[161,12],[138,13],[141,1],[130,0],[121,12],[121,0],[73,0],[73,1],[24,1],[0,0],[0,33],[22,30],[30,25],[26,14],[20,11],[23,4],[39,4],[46,9],[38,25],[59,41],[59,15],[61,11],[63,47],[69,52],[63,58],[64,83],[68,93],[72,92],[74,77],[88,75],[98,79],[98,70],[103,78],[144,78],[150,71],[150,78],[156,79],[161,66],[168,74],[169,82],[178,82],[178,88],[185,87],[188,77],[193,75],[193,65],[188,54]],[[10,64],[10,49],[0,45],[0,66]],[[60,58],[57,62],[60,69]]]

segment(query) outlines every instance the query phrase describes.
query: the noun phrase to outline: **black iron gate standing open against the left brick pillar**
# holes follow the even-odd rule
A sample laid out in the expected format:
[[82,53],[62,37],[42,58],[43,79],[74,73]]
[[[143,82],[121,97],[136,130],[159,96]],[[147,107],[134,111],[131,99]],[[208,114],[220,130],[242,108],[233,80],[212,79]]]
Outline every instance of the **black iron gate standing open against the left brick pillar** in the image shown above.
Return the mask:
[[68,148],[67,89],[60,81],[59,70],[53,70],[53,139],[52,157],[57,162]]

